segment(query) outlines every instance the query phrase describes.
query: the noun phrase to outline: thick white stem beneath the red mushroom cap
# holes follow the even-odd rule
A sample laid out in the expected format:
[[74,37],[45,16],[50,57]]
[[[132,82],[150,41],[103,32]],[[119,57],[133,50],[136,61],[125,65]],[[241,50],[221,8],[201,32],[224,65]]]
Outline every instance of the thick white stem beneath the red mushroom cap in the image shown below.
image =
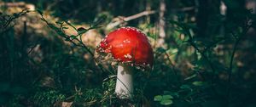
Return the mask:
[[132,67],[129,65],[118,65],[115,93],[120,99],[131,99],[133,93]]

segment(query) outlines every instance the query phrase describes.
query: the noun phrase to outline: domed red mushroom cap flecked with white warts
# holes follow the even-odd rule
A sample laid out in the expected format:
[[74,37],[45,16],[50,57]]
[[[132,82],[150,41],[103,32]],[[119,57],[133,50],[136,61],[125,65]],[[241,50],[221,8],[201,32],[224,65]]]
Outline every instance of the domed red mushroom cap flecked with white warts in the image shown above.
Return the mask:
[[110,32],[96,49],[98,53],[111,53],[122,63],[145,68],[153,65],[153,50],[146,35],[134,27],[121,27]]

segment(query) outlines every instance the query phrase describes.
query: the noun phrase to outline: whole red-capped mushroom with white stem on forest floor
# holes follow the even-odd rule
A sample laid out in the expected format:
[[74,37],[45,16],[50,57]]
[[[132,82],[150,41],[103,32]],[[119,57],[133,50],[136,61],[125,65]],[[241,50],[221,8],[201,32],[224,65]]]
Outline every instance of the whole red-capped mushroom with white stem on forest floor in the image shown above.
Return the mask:
[[120,99],[129,99],[133,93],[132,66],[145,70],[153,65],[153,50],[148,38],[134,27],[121,27],[110,32],[97,46],[96,54],[96,59],[109,59],[106,56],[110,56],[118,62],[115,93]]

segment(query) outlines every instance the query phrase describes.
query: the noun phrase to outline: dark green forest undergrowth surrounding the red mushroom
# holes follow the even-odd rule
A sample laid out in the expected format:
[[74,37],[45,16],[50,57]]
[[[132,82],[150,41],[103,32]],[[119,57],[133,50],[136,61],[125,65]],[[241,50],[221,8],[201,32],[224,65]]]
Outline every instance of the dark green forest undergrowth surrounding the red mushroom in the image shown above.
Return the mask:
[[136,73],[132,104],[255,107],[255,9],[256,0],[0,1],[0,105],[125,104],[116,66],[99,67],[93,53],[109,31],[134,26],[154,66]]

